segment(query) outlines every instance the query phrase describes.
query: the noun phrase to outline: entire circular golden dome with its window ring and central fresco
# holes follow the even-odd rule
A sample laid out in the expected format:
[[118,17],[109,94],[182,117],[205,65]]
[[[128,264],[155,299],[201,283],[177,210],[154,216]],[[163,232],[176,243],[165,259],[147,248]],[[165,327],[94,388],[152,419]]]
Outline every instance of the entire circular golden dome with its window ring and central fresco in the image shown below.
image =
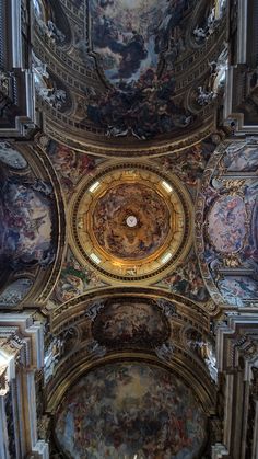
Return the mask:
[[72,244],[104,277],[150,284],[189,250],[190,213],[176,177],[146,164],[114,163],[74,197]]

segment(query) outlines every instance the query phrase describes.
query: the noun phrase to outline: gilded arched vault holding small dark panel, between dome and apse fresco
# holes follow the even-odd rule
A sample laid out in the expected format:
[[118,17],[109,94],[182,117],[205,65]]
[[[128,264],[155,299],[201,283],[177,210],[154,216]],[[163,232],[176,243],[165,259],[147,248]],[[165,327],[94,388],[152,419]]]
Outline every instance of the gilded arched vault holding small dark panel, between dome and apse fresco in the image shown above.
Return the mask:
[[210,411],[216,360],[207,308],[162,288],[106,286],[51,312],[55,340],[47,342],[45,368],[50,399],[57,390],[51,411],[60,406],[72,381],[74,387],[95,362],[102,366],[114,356],[120,364],[137,356],[145,359],[144,365],[148,359],[175,369],[180,362],[180,374],[198,388],[201,403]]

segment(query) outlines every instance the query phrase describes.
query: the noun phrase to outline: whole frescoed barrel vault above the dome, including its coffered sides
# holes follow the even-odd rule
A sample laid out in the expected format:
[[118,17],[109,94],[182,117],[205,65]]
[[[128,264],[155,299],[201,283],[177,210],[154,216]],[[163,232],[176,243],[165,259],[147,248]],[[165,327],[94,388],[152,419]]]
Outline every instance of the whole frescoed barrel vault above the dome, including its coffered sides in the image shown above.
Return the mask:
[[[144,141],[171,139],[172,133],[174,141],[186,130],[194,135],[200,126],[211,127],[216,112],[215,99],[223,93],[223,79],[215,82],[215,72],[211,73],[209,61],[215,62],[224,49],[224,31],[220,28],[221,18],[214,16],[212,1],[206,8],[200,0],[162,0],[159,3],[155,0],[93,0],[77,2],[71,8],[61,3],[60,11],[62,15],[67,14],[74,30],[68,54],[66,43],[69,39],[63,34],[66,27],[61,27],[61,19],[52,14],[51,23],[60,33],[52,32],[52,27],[49,32],[49,20],[44,22],[35,9],[38,24],[35,51],[42,61],[38,71],[42,69],[45,73],[44,62],[47,61],[48,73],[52,71],[50,79],[55,79],[54,73],[63,74],[61,61],[62,66],[64,62],[71,73],[63,81],[67,85],[64,95],[68,101],[71,94],[74,102],[72,112],[71,104],[68,106],[67,103],[58,108],[60,101],[55,99],[56,90],[46,97],[46,91],[43,93],[38,89],[48,114],[59,119],[47,126],[49,134],[60,137],[64,123],[74,133],[80,133],[81,145],[86,138],[92,144],[93,138],[96,141],[99,137],[103,141],[101,138],[104,137],[105,142],[117,145],[119,156],[125,138],[145,148]],[[48,8],[52,9],[52,2]],[[204,38],[196,44],[194,31],[202,23]],[[49,34],[56,49],[50,44],[49,48],[44,47]],[[66,37],[63,43],[60,34]],[[214,41],[218,56],[214,56]],[[192,49],[199,47],[195,61]],[[202,47],[207,55],[204,65]],[[222,60],[220,58],[216,69],[221,74],[225,67]],[[62,90],[64,87],[58,85]],[[47,105],[63,113],[67,111],[69,116],[60,117]],[[58,125],[59,133],[56,131]],[[71,138],[70,128],[67,134]],[[78,141],[79,136],[73,140]],[[94,144],[93,148],[96,147]]]

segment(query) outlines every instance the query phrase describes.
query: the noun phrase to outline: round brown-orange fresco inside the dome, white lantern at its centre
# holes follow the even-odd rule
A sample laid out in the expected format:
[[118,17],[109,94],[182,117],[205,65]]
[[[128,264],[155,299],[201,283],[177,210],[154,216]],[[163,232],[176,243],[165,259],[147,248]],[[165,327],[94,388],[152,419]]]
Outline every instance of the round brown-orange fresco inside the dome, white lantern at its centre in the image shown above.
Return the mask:
[[139,260],[164,244],[169,231],[169,210],[164,199],[140,183],[107,191],[93,213],[98,244],[118,259]]

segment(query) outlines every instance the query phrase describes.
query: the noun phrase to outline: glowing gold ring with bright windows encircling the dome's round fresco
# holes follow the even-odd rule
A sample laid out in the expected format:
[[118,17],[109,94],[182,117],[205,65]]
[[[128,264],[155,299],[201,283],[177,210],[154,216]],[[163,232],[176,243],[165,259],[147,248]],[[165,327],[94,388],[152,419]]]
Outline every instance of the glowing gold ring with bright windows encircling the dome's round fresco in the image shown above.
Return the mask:
[[[138,181],[154,190],[164,199],[171,213],[169,223],[173,230],[164,244],[150,256],[140,261],[125,261],[99,248],[91,221],[97,200],[110,186]],[[164,188],[164,182],[171,191]],[[185,259],[192,243],[190,195],[177,176],[159,171],[149,161],[109,161],[99,168],[94,179],[84,177],[71,199],[69,219],[68,239],[75,256],[82,265],[90,264],[104,282],[112,284],[149,285],[157,282]]]

